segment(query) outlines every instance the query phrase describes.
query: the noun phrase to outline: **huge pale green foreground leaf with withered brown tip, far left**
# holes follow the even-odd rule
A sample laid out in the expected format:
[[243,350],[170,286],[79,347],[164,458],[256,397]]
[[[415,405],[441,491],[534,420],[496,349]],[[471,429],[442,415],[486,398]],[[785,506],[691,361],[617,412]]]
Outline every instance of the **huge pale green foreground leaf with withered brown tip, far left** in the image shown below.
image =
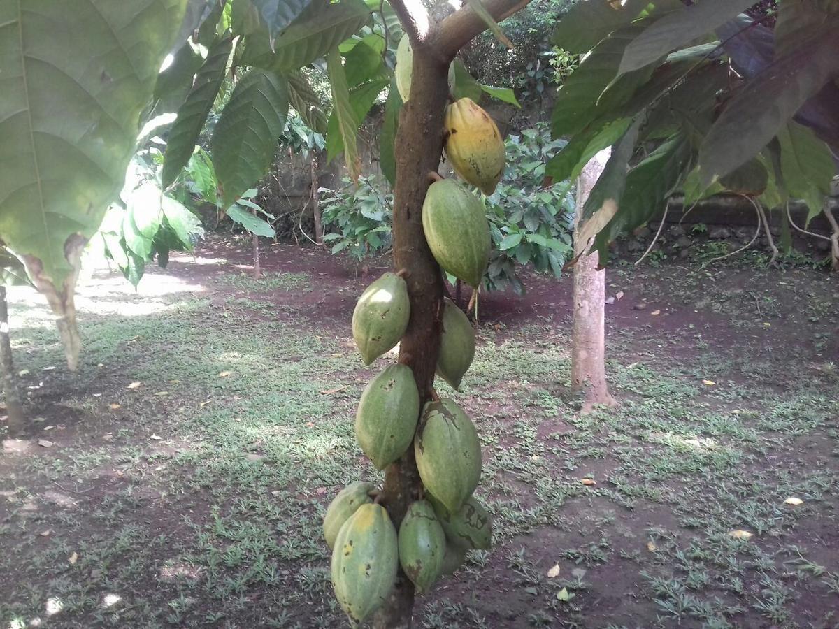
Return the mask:
[[81,250],[122,188],[185,0],[0,3],[0,239],[78,361]]

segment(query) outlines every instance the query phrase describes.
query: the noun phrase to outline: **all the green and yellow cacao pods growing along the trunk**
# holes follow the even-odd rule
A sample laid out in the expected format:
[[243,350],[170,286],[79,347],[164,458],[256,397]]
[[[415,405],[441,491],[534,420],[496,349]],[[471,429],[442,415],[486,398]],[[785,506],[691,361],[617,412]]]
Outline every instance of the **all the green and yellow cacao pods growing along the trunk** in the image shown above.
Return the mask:
[[[410,67],[403,38],[396,79],[405,101]],[[452,77],[450,72],[450,85]],[[446,156],[456,173],[492,194],[504,168],[503,141],[492,119],[468,98],[454,101],[446,110],[446,137]],[[426,193],[422,218],[440,267],[477,290],[490,249],[481,200],[456,179],[440,179]],[[364,290],[352,314],[352,335],[365,365],[399,343],[409,319],[408,286],[399,274],[384,273]],[[459,389],[474,356],[472,324],[445,299],[437,375]],[[397,363],[373,377],[358,404],[356,438],[364,454],[383,470],[413,447],[422,488],[398,532],[372,483],[351,483],[327,508],[323,532],[332,549],[332,586],[353,623],[383,606],[399,566],[424,593],[440,576],[455,572],[468,550],[487,549],[492,540],[492,519],[472,496],[481,477],[475,425],[451,399],[435,397],[420,409],[421,402],[414,372]]]

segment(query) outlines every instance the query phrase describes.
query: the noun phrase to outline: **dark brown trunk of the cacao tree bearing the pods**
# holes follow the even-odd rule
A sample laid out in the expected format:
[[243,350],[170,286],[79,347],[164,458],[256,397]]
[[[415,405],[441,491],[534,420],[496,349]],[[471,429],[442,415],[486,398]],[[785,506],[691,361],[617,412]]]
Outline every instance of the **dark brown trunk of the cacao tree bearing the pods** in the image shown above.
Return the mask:
[[[429,173],[440,166],[443,149],[443,112],[448,97],[448,64],[423,45],[414,44],[411,96],[399,115],[396,144],[396,187],[393,197],[393,265],[404,269],[411,314],[399,346],[399,362],[414,372],[420,402],[431,398],[437,353],[440,349],[443,278],[425,242],[422,204],[430,185]],[[399,523],[420,491],[414,449],[391,465],[384,479],[384,504]],[[376,614],[375,629],[411,626],[414,585],[399,569],[388,602]]]

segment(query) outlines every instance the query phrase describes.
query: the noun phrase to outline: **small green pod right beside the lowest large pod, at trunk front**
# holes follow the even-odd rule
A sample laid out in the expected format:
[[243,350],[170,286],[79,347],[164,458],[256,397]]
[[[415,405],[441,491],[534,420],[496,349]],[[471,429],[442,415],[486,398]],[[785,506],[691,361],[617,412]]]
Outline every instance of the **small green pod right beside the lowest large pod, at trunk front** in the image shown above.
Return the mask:
[[427,592],[443,569],[446,558],[446,533],[425,500],[411,503],[399,525],[399,564],[416,586]]

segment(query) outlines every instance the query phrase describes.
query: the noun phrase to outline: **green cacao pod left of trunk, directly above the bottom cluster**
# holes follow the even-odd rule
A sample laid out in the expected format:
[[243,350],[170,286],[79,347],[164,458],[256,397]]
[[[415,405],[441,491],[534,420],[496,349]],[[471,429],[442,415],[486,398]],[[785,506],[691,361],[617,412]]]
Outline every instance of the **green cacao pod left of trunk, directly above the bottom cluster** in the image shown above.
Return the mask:
[[420,392],[409,366],[391,365],[362,393],[356,412],[356,439],[379,470],[408,450],[420,419]]

